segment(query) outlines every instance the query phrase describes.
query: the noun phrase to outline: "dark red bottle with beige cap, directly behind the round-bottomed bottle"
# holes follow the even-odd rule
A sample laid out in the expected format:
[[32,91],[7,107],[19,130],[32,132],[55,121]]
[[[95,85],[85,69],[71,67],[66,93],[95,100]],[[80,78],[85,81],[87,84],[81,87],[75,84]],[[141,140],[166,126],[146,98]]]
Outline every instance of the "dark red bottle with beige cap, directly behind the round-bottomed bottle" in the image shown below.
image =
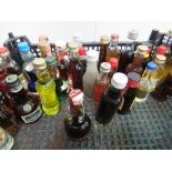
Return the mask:
[[73,89],[83,90],[82,74],[85,71],[84,65],[79,61],[79,44],[77,42],[70,42],[69,48],[69,59],[70,63],[68,67],[68,74],[72,82]]

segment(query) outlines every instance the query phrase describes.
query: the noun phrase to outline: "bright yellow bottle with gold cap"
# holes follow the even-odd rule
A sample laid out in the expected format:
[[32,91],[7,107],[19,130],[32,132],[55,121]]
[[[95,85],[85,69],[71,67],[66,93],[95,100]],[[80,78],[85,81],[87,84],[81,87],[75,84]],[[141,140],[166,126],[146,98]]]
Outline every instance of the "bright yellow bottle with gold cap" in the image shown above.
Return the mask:
[[45,59],[34,59],[33,67],[38,78],[36,89],[41,99],[42,110],[47,115],[55,115],[59,112],[59,101],[55,94],[55,82],[47,69]]

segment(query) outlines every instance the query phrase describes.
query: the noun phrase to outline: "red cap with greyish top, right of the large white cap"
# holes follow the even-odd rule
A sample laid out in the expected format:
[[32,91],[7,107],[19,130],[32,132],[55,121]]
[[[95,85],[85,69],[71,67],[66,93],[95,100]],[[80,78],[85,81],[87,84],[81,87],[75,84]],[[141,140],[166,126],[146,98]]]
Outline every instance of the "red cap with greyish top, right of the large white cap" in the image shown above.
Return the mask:
[[136,88],[141,80],[141,75],[136,72],[129,72],[128,78],[129,78],[128,87],[130,88]]

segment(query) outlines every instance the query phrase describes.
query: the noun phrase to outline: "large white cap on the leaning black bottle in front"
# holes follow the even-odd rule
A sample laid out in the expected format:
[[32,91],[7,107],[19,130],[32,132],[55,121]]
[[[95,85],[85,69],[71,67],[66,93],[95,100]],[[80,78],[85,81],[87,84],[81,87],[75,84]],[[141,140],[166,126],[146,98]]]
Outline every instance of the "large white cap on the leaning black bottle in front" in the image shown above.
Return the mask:
[[128,77],[121,72],[114,73],[112,79],[111,79],[111,84],[115,89],[122,90],[125,88],[127,83],[128,83]]

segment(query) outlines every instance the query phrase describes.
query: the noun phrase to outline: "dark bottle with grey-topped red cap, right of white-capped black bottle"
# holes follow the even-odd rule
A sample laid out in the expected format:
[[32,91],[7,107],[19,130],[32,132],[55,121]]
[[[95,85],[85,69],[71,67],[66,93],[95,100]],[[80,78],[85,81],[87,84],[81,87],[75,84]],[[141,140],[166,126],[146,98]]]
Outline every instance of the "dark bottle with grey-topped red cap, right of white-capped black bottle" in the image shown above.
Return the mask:
[[127,91],[123,94],[123,103],[120,105],[118,113],[127,114],[131,111],[134,99],[136,97],[136,87],[140,82],[141,75],[136,72],[129,72],[128,73],[128,84]]

